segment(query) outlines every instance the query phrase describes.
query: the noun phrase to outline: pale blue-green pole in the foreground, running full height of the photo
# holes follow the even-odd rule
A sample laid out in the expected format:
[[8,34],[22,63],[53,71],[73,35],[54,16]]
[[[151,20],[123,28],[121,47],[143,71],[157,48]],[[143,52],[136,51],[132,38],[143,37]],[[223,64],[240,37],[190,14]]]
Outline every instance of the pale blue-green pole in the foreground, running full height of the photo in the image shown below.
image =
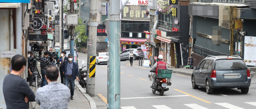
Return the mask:
[[120,0],[110,0],[108,109],[120,109]]

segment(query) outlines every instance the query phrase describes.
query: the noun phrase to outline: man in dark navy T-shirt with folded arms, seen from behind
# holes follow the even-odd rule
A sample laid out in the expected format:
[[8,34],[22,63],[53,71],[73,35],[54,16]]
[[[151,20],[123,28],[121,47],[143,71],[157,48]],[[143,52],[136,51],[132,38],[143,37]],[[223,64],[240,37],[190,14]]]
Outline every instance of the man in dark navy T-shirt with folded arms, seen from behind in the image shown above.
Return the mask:
[[4,77],[2,84],[6,109],[29,109],[28,101],[35,101],[36,95],[27,81],[20,77],[26,69],[26,58],[14,55],[11,65],[12,71]]

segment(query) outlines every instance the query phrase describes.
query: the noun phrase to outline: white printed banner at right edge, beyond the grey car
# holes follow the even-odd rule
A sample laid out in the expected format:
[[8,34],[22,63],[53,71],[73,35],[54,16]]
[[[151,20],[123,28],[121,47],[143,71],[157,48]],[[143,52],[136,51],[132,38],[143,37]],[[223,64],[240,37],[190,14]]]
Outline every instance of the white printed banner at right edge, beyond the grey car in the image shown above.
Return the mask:
[[256,37],[244,36],[244,62],[256,66]]

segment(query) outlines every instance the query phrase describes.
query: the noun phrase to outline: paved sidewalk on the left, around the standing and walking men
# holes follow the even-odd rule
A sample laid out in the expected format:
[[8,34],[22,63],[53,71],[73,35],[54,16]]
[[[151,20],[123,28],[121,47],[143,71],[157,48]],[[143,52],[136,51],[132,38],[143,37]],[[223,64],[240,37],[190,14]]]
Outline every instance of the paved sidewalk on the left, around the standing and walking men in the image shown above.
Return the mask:
[[[58,78],[58,82],[61,83],[60,77]],[[75,84],[78,84],[75,80]],[[35,83],[33,83],[33,85],[35,85]],[[79,86],[78,86],[79,87]],[[83,95],[83,93],[78,89],[77,85],[75,86],[75,91],[74,91],[74,100],[69,101],[68,103],[68,109],[91,109],[90,103],[88,101],[88,99]],[[31,87],[32,91],[34,91],[35,95],[36,95],[36,91],[39,87]],[[34,109],[40,109],[40,106],[38,104],[36,104],[36,102],[30,102],[32,105],[30,105],[30,109],[33,109],[32,107],[34,107],[36,105],[36,107]]]

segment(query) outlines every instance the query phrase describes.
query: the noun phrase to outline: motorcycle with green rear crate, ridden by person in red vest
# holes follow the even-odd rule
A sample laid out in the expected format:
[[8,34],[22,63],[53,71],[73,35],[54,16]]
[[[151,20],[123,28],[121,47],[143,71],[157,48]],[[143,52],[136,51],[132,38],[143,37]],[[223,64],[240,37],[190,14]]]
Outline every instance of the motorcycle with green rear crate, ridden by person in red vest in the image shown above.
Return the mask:
[[[161,75],[160,70],[166,70],[167,73],[165,73],[165,74],[167,76],[166,75]],[[156,79],[156,84],[155,84],[155,87],[152,88],[152,93],[156,93],[156,91],[157,91],[157,92],[159,92],[159,94],[161,96],[164,95],[164,91],[169,90],[169,88],[166,88],[166,87],[172,85],[172,83],[170,82],[172,70],[159,69],[158,70],[158,75],[159,75],[158,77],[156,77],[156,74],[155,74],[156,70],[153,70],[153,71],[150,70],[150,72],[152,72],[152,73],[148,74],[148,77],[149,77],[150,81],[152,81],[152,78]],[[153,81],[152,81],[152,84],[153,84]]]

